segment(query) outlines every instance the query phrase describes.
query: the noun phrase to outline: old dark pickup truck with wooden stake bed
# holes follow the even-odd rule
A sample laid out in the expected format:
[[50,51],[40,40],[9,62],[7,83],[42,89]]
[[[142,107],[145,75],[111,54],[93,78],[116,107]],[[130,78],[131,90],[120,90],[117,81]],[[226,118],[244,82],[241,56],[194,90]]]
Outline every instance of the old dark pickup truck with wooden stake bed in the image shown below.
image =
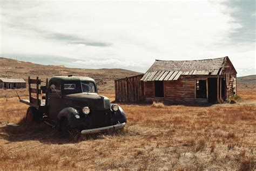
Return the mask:
[[38,77],[29,77],[29,99],[20,99],[30,106],[26,123],[43,121],[64,133],[75,129],[80,134],[122,129],[126,125],[122,108],[99,95],[92,78],[57,76],[46,79],[45,85],[39,87],[42,82]]

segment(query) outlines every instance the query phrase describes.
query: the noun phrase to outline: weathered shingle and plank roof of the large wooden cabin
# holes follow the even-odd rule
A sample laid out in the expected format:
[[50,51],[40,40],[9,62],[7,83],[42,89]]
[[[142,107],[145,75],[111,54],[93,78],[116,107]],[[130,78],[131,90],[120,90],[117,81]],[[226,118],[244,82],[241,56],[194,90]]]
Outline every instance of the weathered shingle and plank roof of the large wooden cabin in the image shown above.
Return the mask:
[[203,60],[156,60],[141,80],[177,80],[181,75],[218,75],[228,57]]

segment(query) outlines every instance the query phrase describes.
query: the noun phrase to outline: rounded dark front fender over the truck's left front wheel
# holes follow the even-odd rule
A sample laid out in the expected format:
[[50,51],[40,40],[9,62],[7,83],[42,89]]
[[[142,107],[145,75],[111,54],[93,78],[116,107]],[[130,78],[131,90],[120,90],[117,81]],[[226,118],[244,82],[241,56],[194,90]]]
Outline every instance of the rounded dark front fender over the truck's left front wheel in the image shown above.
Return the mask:
[[65,107],[57,115],[58,125],[63,117],[67,118],[70,124],[70,127],[73,127],[73,122],[76,119],[76,115],[79,115],[79,111],[73,107]]

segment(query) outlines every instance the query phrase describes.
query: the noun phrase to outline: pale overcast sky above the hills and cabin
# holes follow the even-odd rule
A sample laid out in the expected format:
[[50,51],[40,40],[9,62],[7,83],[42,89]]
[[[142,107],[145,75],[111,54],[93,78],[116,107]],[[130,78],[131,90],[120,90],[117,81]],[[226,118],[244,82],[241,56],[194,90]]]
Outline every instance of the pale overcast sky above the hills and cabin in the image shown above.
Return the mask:
[[145,72],[154,62],[230,57],[255,74],[255,1],[0,1],[3,57]]

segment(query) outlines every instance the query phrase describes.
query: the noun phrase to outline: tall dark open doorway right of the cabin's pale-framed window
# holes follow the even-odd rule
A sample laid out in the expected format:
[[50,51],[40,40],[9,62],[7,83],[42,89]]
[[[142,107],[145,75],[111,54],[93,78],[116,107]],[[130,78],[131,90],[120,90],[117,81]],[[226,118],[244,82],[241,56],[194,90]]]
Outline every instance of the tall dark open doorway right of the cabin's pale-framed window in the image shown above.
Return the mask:
[[208,78],[208,101],[217,101],[217,78]]

